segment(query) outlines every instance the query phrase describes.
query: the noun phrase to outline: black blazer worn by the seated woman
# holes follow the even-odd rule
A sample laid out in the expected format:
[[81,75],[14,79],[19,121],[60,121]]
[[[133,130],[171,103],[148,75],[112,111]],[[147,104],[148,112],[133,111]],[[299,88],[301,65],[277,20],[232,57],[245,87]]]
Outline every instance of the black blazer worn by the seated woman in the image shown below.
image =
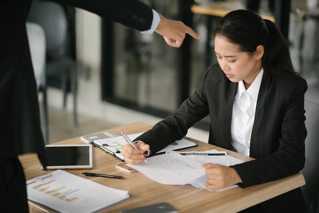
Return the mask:
[[[200,87],[180,108],[136,140],[150,145],[151,153],[181,139],[188,129],[209,114],[208,143],[230,149],[230,124],[237,83],[219,65],[210,66]],[[306,81],[293,73],[263,74],[253,125],[250,156],[256,160],[233,166],[241,187],[277,180],[298,173],[305,163],[304,116]],[[300,189],[261,204],[267,212],[303,212]]]

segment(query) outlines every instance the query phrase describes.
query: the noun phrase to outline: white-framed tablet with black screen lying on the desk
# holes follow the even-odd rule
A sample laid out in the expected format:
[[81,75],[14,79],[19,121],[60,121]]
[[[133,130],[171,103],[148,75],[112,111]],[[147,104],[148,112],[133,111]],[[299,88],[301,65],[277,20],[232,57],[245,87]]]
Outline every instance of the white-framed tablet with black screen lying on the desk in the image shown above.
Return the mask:
[[[46,169],[88,169],[93,167],[91,144],[46,145]],[[43,169],[41,165],[41,169]]]

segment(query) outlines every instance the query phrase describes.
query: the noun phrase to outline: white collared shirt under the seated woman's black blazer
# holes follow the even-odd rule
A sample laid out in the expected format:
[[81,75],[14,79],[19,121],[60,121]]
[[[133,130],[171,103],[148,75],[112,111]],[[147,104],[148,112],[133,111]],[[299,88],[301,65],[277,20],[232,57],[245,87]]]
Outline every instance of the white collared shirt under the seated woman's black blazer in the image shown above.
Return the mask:
[[257,99],[263,69],[246,90],[244,82],[238,82],[231,117],[231,150],[249,156],[250,139],[255,121]]

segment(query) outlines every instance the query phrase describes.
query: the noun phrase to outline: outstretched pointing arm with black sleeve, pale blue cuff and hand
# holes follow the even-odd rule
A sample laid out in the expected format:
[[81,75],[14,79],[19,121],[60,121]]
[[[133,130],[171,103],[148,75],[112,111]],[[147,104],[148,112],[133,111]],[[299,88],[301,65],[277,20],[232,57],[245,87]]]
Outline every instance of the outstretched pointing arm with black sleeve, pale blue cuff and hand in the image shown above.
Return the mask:
[[88,10],[103,18],[122,23],[142,33],[150,34],[155,31],[164,37],[168,45],[173,47],[180,47],[185,34],[199,39],[199,35],[183,22],[167,19],[162,14],[157,13],[143,2],[137,0],[55,0],[54,2]]

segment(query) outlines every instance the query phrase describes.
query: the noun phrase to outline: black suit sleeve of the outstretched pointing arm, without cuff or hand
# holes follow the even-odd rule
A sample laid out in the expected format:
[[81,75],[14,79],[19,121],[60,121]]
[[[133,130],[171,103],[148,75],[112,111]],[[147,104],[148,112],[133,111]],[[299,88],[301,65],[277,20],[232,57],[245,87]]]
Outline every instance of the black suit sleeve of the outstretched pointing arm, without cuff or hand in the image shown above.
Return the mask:
[[153,20],[152,9],[137,0],[55,0],[54,2],[85,9],[138,31],[149,30]]

